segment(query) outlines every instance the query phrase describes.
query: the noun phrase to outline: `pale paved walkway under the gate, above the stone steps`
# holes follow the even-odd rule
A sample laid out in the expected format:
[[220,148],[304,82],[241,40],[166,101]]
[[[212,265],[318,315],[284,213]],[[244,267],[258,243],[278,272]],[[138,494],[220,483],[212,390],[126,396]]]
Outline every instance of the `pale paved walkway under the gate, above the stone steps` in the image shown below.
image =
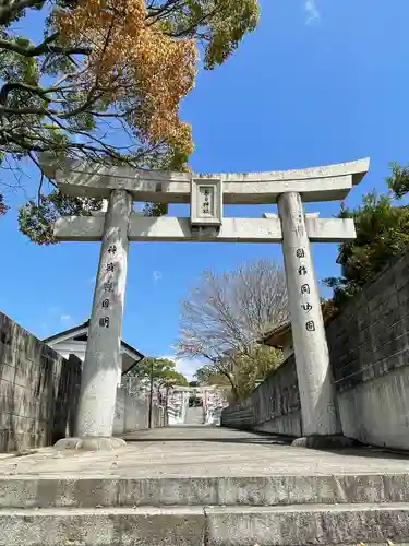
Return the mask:
[[409,456],[370,449],[324,452],[219,427],[169,427],[128,435],[111,452],[0,454],[0,478],[217,477],[409,473]]

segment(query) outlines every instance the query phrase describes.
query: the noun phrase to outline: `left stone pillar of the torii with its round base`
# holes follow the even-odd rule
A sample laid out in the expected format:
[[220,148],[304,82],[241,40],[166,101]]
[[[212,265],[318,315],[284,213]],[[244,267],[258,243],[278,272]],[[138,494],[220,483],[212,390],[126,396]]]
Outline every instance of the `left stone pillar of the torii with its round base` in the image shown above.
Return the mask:
[[113,190],[109,195],[82,372],[77,437],[59,440],[58,449],[94,451],[125,444],[124,440],[112,437],[112,428],[121,365],[132,202],[132,195],[124,190]]

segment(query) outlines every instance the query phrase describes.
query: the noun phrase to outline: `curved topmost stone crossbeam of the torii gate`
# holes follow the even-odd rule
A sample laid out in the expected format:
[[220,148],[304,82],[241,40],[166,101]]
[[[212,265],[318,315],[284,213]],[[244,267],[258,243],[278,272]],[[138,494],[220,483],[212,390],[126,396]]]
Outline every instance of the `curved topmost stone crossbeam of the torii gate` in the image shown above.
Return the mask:
[[100,166],[81,161],[40,159],[45,174],[67,195],[108,199],[112,190],[127,190],[134,201],[189,203],[192,178],[222,181],[224,203],[275,203],[281,193],[294,191],[303,202],[338,201],[347,197],[369,170],[359,159],[323,167],[265,173],[190,174]]

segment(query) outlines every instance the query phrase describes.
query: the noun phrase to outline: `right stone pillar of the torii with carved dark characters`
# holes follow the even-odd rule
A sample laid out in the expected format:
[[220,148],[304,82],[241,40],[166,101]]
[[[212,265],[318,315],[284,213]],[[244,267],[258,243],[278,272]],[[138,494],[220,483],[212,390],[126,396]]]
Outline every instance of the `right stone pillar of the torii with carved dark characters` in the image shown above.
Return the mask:
[[341,437],[332,379],[328,345],[301,195],[282,193],[277,200],[291,313],[292,340],[300,390],[305,447],[348,444]]

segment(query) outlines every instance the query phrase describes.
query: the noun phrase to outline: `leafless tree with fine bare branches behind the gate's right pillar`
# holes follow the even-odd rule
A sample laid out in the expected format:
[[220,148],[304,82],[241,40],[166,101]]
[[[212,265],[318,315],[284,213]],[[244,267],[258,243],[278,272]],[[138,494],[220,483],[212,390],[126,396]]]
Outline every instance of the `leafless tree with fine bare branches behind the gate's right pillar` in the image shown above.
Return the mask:
[[238,390],[237,369],[251,367],[257,340],[288,318],[285,274],[274,262],[204,272],[182,301],[178,356],[206,358]]

